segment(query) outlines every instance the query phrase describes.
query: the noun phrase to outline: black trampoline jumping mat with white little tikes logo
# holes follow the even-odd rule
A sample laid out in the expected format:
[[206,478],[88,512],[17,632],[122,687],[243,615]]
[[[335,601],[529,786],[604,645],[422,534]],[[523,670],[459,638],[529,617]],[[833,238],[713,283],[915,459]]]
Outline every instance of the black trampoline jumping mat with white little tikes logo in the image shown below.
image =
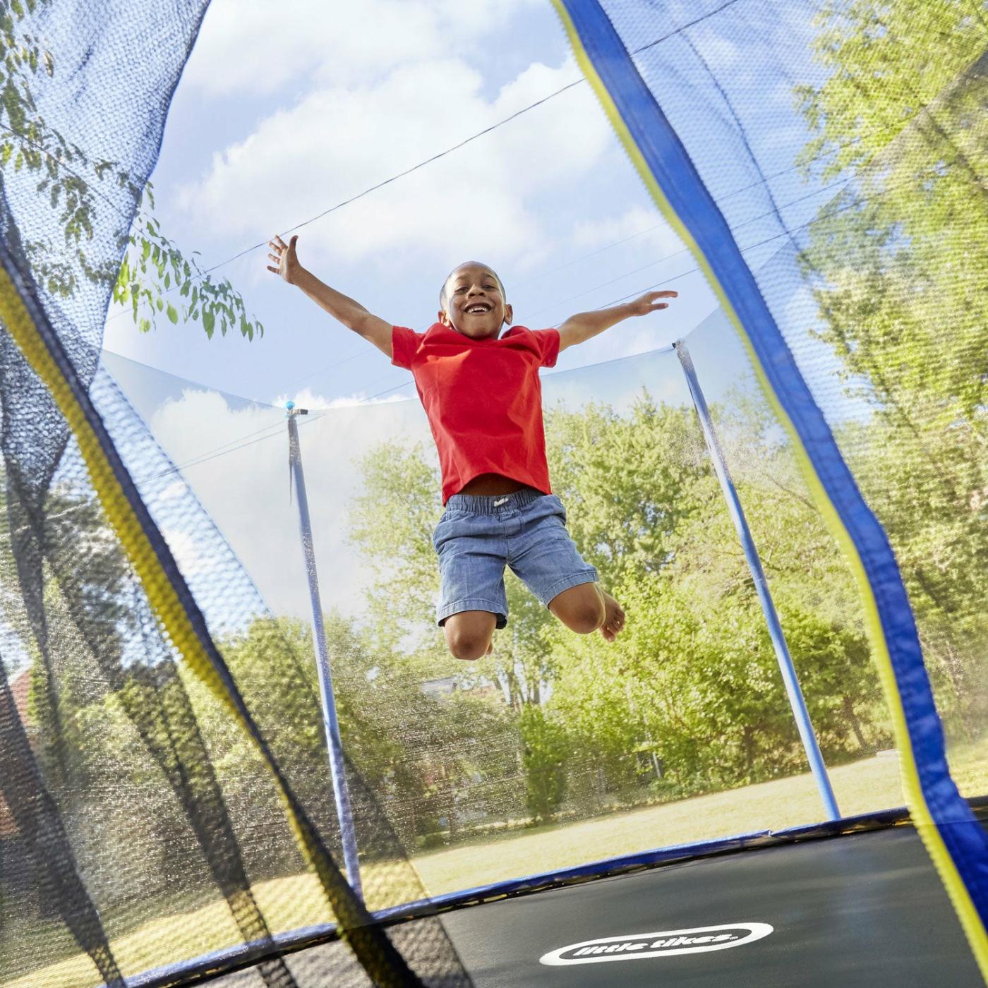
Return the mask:
[[[988,799],[973,808],[988,827]],[[437,913],[477,988],[982,983],[905,810],[532,875],[380,921],[407,932]],[[333,941],[332,928],[282,938],[300,983],[309,970],[318,980]],[[251,985],[264,949],[148,972],[133,984],[158,988],[181,976]]]

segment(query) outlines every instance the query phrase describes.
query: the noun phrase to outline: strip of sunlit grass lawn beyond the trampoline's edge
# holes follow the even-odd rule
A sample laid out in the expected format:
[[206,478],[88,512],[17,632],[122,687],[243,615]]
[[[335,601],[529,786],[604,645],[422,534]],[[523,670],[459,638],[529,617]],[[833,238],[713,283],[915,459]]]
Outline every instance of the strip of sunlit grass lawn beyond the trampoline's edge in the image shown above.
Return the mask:
[[[951,752],[953,775],[965,795],[988,792],[985,751],[985,744],[979,743]],[[844,816],[903,803],[894,753],[832,769],[830,778]],[[820,798],[811,777],[795,776],[675,803],[616,811],[578,823],[515,831],[482,843],[417,855],[413,864],[427,892],[438,895],[650,848],[779,830],[822,819]],[[394,872],[385,875],[385,869],[390,870],[387,865],[367,869],[366,887],[372,889],[375,881],[393,879]],[[321,891],[308,874],[260,882],[254,894],[273,929],[290,930],[329,919]],[[372,906],[379,904],[371,901]],[[112,949],[124,974],[134,974],[238,942],[226,903],[218,901],[130,930],[113,939]],[[0,977],[6,973],[0,970]],[[5,980],[4,986],[81,988],[98,981],[89,957],[76,954]]]

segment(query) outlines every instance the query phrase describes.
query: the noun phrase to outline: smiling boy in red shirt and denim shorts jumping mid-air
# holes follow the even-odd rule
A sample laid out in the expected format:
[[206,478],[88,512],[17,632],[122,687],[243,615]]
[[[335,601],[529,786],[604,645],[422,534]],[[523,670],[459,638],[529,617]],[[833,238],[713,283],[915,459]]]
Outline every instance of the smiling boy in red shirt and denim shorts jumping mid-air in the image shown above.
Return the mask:
[[436,618],[457,659],[491,651],[508,623],[507,564],[553,615],[581,634],[614,641],[624,612],[597,582],[566,532],[551,493],[538,369],[559,352],[635,315],[667,307],[649,291],[614,308],[570,316],[559,328],[511,326],[501,279],[486,265],[459,265],[440,292],[439,321],[425,333],[392,326],[319,281],[299,263],[292,237],[269,242],[268,270],[295,285],[395,367],[412,371],[443,473],[446,511],[433,535],[441,595]]

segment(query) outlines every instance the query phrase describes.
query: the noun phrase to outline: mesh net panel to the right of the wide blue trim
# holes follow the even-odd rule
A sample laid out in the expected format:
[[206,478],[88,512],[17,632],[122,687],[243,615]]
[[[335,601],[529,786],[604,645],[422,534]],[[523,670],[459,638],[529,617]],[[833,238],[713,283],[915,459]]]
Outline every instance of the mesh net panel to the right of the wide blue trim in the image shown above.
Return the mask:
[[[889,536],[951,767],[983,790],[988,13],[603,6]],[[691,348],[725,372],[709,333]]]

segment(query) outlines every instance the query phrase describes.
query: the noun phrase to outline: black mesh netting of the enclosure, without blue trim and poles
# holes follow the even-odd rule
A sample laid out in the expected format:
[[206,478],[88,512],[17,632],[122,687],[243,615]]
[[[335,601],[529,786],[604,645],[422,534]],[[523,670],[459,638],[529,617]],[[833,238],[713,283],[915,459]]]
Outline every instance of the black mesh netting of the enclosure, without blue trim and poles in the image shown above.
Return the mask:
[[[889,535],[951,769],[963,794],[983,794],[984,8],[603,6]],[[3,268],[105,423],[296,816],[340,861],[298,619],[307,598],[281,565],[297,551],[283,413],[205,390],[197,405],[190,382],[99,360],[126,233],[204,7],[0,2]],[[136,983],[164,985],[217,951],[236,963],[229,951],[250,944],[223,983],[367,983],[343,943],[272,959],[270,937],[337,919],[324,885],[264,750],[163,632],[91,483],[90,451],[10,330],[0,981],[76,988],[152,971]],[[723,313],[687,344],[838,804],[900,805],[852,573]],[[167,407],[141,404],[166,392]],[[371,910],[425,896],[403,847],[435,893],[822,817],[675,355],[562,373],[544,394],[553,484],[581,551],[628,610],[627,633],[615,648],[561,634],[509,579],[511,623],[469,671],[446,657],[432,620],[440,505],[421,410],[334,409],[302,423]],[[114,482],[135,498],[120,471]],[[439,921],[386,936],[426,983],[466,983]]]

